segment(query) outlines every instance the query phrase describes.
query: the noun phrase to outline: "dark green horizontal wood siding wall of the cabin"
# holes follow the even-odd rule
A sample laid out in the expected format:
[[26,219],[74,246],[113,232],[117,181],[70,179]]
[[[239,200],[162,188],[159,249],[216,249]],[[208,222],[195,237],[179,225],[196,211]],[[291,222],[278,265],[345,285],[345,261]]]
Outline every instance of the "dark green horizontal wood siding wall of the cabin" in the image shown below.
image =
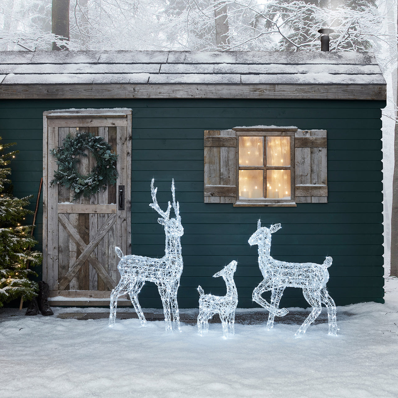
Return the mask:
[[[383,302],[381,111],[384,101],[332,100],[3,100],[0,135],[17,142],[12,164],[17,196],[36,195],[42,175],[42,113],[62,108],[133,109],[132,253],[160,257],[164,230],[149,206],[150,179],[162,207],[171,199],[171,179],[184,227],[180,308],[197,307],[197,286],[225,294],[212,275],[232,259],[239,306],[250,308],[262,280],[257,246],[247,243],[263,224],[280,222],[271,255],[285,261],[322,263],[333,257],[328,289],[337,305]],[[203,203],[203,131],[236,125],[295,125],[328,131],[328,203],[297,207],[232,207]],[[31,208],[34,207],[32,199]],[[40,211],[42,209],[40,208]],[[42,213],[36,236],[41,241]],[[29,221],[29,220],[28,220]],[[267,294],[265,297],[268,297]],[[140,293],[144,307],[161,307],[157,288]],[[286,289],[281,306],[307,306],[300,289]]]

